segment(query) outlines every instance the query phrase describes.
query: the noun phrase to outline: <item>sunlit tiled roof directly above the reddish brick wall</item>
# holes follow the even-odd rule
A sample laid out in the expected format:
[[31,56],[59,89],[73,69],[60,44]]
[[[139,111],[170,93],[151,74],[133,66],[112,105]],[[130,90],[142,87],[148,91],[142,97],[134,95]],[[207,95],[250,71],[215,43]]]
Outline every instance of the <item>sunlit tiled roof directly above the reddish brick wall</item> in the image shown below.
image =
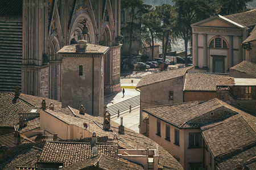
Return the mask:
[[185,76],[184,91],[216,91],[218,78],[229,74],[188,72]]

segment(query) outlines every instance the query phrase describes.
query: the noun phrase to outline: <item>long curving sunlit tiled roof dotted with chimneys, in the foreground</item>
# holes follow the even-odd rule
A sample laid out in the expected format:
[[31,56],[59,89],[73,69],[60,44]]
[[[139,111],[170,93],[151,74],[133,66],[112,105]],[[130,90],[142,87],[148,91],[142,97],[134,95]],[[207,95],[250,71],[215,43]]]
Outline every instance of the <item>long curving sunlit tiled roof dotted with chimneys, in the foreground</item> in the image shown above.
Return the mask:
[[[82,126],[83,122],[88,122],[89,124],[88,129],[92,132],[95,131],[99,137],[108,136],[108,138],[112,139],[114,137],[113,134],[118,134],[119,124],[111,121],[110,124],[113,132],[105,131],[105,130],[102,130],[103,121],[104,121],[103,117],[94,117],[94,116],[90,116],[89,114],[81,115],[79,114],[79,111],[77,109],[73,109],[73,108],[71,109],[76,114],[77,117],[75,117],[73,113],[68,109],[65,109],[65,112],[61,112],[63,111],[63,109],[61,109],[61,111],[59,112],[53,112],[47,109],[46,112],[48,112],[49,114],[52,114],[52,116],[57,117],[60,120],[67,121],[68,124],[70,123],[70,124],[75,124],[77,126]],[[96,123],[99,126],[101,126],[101,128]],[[125,134],[118,135],[118,139],[119,139],[119,142],[118,142],[119,147],[125,148],[125,149],[134,149],[137,147],[139,149],[146,149],[147,147],[149,147],[149,149],[156,149],[156,145],[157,145],[157,143],[154,142],[152,139],[149,139],[144,135],[136,133],[135,131],[127,128],[125,128]],[[163,147],[158,146],[158,152],[159,152],[158,158],[159,158],[160,166],[163,166],[164,168],[167,168],[167,169],[183,169],[181,164],[177,162],[177,160],[174,157],[172,157],[172,155],[169,154]]]

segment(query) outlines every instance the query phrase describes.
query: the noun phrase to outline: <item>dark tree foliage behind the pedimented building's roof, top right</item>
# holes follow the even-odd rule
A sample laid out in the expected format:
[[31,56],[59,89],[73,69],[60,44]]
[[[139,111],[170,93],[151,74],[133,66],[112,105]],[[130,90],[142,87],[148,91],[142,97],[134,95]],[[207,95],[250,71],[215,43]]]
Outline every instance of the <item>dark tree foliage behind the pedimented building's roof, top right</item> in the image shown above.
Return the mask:
[[246,6],[248,2],[253,0],[217,0],[220,5],[220,15],[230,15],[247,10]]

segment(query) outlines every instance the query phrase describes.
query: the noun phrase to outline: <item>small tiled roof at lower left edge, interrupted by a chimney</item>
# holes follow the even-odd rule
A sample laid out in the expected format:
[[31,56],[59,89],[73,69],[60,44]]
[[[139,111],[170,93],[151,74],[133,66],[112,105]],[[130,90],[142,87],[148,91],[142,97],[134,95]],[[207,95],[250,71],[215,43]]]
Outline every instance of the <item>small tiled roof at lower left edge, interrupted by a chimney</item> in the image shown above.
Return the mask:
[[20,142],[17,144],[17,137],[14,137],[14,133],[1,135],[0,136],[0,146],[5,145],[6,147],[15,147],[17,145],[23,145],[26,143],[32,143],[30,139],[25,137],[24,135],[20,134]]

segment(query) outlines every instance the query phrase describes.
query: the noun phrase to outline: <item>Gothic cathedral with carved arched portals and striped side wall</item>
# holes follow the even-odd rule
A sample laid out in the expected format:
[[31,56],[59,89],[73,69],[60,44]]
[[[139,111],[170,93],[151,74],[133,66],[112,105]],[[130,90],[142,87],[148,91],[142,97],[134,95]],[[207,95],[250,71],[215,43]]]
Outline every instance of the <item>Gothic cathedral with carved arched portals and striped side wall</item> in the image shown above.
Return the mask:
[[[104,91],[121,90],[120,0],[3,0],[0,8],[0,91],[18,85],[24,94],[61,101],[57,52],[79,39],[109,46]],[[88,34],[81,37],[84,24]]]

